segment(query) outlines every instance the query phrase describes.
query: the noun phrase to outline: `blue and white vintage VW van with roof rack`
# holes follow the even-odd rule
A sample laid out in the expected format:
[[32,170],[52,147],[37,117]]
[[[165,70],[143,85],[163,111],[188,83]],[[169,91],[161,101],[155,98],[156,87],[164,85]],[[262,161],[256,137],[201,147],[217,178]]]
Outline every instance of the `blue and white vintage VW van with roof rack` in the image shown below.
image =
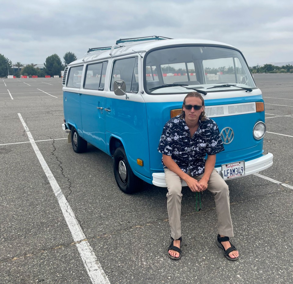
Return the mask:
[[157,36],[120,39],[70,63],[62,84],[62,127],[73,150],[82,153],[90,143],[112,156],[123,192],[135,192],[141,180],[166,187],[158,143],[165,123],[181,113],[192,91],[201,93],[207,116],[219,126],[225,151],[217,154],[215,167],[224,179],[273,164],[273,155],[262,149],[262,92],[231,45]]

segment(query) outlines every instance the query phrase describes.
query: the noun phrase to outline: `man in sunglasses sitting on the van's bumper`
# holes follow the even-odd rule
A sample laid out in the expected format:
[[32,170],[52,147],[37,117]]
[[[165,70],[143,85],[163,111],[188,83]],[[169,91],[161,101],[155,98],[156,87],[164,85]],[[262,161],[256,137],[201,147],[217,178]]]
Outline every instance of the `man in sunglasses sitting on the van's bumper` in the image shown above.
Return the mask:
[[216,153],[223,150],[217,124],[205,116],[204,99],[197,92],[187,94],[182,113],[165,124],[158,147],[163,155],[162,163],[168,187],[167,210],[171,227],[168,256],[171,259],[178,260],[182,254],[182,181],[186,182],[192,192],[208,189],[214,194],[218,215],[216,243],[227,259],[235,261],[239,257],[237,249],[229,240],[229,237],[233,237],[229,189],[215,169]]

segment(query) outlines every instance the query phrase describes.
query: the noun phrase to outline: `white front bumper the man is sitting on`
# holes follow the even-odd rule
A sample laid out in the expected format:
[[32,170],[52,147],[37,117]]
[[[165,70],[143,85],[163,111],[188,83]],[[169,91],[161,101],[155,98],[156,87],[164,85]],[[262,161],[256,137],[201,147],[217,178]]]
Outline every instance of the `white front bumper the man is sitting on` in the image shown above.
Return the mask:
[[[273,165],[273,154],[267,153],[259,158],[245,162],[245,175],[254,174],[263,171]],[[218,174],[222,177],[222,168],[216,167]],[[165,173],[153,173],[153,184],[160,187],[167,187],[165,182]],[[182,182],[182,186],[187,186]]]

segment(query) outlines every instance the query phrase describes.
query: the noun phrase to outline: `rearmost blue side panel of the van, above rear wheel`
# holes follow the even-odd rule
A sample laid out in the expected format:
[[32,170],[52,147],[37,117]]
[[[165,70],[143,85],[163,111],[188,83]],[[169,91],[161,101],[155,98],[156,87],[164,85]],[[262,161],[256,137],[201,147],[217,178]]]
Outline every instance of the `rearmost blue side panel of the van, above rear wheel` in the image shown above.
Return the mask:
[[64,118],[67,124],[73,125],[78,131],[78,134],[83,137],[81,109],[80,109],[80,95],[73,92],[63,93]]

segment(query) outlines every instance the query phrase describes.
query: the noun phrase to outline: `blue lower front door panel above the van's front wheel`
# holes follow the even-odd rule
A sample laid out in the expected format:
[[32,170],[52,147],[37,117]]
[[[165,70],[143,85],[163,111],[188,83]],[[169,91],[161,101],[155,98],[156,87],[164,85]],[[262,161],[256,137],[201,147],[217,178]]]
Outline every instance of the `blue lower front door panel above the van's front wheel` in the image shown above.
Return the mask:
[[[151,178],[146,104],[114,96],[106,97],[105,102],[111,110],[105,111],[107,151],[110,153],[110,138],[114,135],[124,145],[132,171]],[[137,164],[137,159],[143,160],[143,166]]]

